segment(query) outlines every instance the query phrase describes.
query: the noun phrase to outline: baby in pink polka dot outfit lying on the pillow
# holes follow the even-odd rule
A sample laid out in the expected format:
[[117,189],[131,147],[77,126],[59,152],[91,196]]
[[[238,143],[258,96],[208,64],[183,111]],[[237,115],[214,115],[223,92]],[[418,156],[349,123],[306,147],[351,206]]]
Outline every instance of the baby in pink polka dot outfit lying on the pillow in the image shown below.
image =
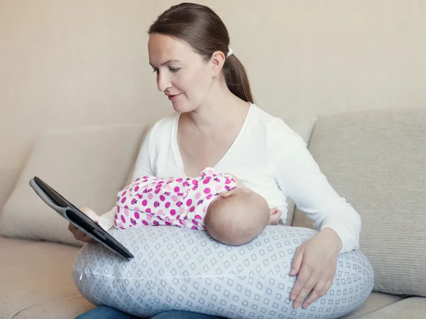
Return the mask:
[[119,192],[114,226],[174,225],[207,230],[227,245],[244,245],[281,212],[231,174],[207,167],[200,177],[160,179],[144,176]]

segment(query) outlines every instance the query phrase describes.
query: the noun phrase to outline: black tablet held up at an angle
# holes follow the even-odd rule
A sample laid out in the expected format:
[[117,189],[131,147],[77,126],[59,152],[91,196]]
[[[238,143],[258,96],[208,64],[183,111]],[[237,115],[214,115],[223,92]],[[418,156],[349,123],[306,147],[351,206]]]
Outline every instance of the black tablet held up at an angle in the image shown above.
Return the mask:
[[75,225],[78,229],[97,240],[102,245],[107,247],[112,252],[119,254],[126,260],[132,259],[134,256],[126,249],[121,243],[109,233],[104,230],[97,222],[89,218],[76,206],[72,205],[70,201],[67,201],[62,197],[55,189],[50,187],[44,181],[38,177],[34,177],[30,180],[30,186],[34,189],[35,193],[40,196],[45,203],[53,208],[63,218],[68,220],[72,225]]

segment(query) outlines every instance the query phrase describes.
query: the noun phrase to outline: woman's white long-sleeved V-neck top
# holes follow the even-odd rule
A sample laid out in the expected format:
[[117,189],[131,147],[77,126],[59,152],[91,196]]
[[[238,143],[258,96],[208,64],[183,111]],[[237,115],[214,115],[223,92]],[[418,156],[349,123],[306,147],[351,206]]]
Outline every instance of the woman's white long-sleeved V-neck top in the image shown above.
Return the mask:
[[[143,142],[132,181],[143,175],[186,177],[177,143],[180,113],[153,125]],[[305,142],[280,118],[251,104],[236,140],[214,166],[234,174],[268,205],[287,217],[287,197],[307,213],[317,230],[332,228],[342,239],[340,252],[359,248],[361,218],[341,198],[320,171]],[[101,216],[102,227],[112,228],[115,207]]]

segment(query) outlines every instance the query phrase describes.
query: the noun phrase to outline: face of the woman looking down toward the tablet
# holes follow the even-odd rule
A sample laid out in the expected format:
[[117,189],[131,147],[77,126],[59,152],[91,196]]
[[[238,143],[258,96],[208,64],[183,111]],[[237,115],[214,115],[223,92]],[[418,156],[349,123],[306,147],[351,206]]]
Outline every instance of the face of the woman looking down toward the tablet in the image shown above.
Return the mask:
[[158,89],[172,101],[175,111],[194,111],[209,98],[212,62],[204,62],[190,45],[155,33],[149,37],[148,52]]

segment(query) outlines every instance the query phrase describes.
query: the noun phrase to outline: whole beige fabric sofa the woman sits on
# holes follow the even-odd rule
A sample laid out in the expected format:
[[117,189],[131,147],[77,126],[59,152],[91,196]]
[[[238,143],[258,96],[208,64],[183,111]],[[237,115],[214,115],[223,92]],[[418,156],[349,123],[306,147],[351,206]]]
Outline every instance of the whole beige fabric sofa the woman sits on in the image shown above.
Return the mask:
[[[366,302],[342,318],[425,318],[426,110],[283,119],[361,215],[360,250],[373,266],[375,283]],[[28,181],[38,176],[76,206],[107,212],[129,182],[151,124],[38,136],[1,208],[0,318],[75,318],[94,307],[71,276],[82,243]],[[289,200],[285,225],[312,228],[312,221]]]

